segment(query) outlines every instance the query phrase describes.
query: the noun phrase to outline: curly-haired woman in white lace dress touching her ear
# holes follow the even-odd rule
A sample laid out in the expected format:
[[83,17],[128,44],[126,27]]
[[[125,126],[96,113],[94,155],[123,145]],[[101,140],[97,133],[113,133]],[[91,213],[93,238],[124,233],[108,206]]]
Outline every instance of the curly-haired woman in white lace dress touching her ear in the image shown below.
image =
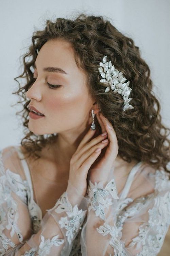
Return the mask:
[[1,255],[157,255],[169,129],[139,48],[81,14],[47,20],[23,63],[26,136],[0,151]]

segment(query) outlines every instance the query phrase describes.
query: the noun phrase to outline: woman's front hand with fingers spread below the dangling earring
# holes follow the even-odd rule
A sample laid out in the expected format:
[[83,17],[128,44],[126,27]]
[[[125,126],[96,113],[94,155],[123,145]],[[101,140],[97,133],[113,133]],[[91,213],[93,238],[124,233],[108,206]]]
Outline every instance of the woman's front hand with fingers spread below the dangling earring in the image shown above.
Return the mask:
[[[78,198],[76,197],[79,197],[79,195],[80,197],[86,195],[88,171],[101,153],[101,151],[96,152],[96,150],[97,148],[101,148],[102,150],[108,144],[108,142],[102,143],[107,138],[107,134],[104,136],[100,134],[94,139],[91,139],[95,132],[96,130],[88,130],[70,160],[69,179],[66,191],[69,192],[69,195],[72,195],[72,201],[74,198],[77,200]],[[109,135],[110,137],[111,135]],[[75,189],[77,189],[78,193],[75,193]]]

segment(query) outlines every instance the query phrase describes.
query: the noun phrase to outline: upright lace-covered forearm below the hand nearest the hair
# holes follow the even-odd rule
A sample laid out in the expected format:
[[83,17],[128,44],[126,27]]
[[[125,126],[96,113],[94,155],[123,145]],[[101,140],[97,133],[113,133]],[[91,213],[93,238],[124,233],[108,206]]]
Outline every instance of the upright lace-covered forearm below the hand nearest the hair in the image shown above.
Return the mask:
[[[105,256],[113,255],[114,249],[110,245],[112,242],[112,231],[116,230],[114,218],[114,202],[117,201],[117,191],[114,186],[114,180],[108,182],[105,186],[101,183],[89,183],[88,195],[89,205],[87,211],[87,220],[83,226],[81,239],[82,256]],[[107,228],[105,227],[107,225]],[[115,233],[115,241],[120,243]],[[108,254],[109,253],[109,254]]]

